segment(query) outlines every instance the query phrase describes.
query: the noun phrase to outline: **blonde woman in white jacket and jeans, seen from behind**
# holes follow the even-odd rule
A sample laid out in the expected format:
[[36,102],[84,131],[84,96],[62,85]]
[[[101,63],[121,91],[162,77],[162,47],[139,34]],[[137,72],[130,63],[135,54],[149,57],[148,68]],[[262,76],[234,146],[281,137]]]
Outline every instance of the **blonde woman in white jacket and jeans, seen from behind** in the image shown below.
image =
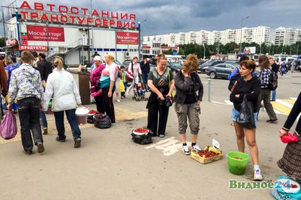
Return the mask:
[[47,109],[51,96],[53,96],[52,111],[55,117],[56,129],[58,130],[56,140],[61,143],[64,143],[66,140],[64,126],[65,111],[74,136],[74,147],[78,148],[80,147],[81,138],[75,111],[76,107],[82,107],[78,87],[71,73],[62,68],[63,62],[60,57],[55,57],[53,65],[55,69],[53,73],[49,74],[47,79],[44,110]]

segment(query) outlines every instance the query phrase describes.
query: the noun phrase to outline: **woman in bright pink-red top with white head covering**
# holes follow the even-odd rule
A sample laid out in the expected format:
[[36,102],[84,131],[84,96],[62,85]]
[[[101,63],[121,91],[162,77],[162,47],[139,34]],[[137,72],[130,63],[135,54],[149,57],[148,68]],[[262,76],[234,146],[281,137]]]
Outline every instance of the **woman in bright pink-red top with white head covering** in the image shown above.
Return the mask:
[[[96,55],[94,57],[94,65],[95,69],[90,73],[90,82],[91,82],[91,92],[98,91],[101,88],[99,87],[99,79],[101,78],[101,73],[103,72],[103,69],[105,69],[105,64],[102,63],[101,57],[99,55]],[[105,108],[101,104],[101,95],[98,95],[94,97],[96,102],[96,109],[100,113],[105,113]]]

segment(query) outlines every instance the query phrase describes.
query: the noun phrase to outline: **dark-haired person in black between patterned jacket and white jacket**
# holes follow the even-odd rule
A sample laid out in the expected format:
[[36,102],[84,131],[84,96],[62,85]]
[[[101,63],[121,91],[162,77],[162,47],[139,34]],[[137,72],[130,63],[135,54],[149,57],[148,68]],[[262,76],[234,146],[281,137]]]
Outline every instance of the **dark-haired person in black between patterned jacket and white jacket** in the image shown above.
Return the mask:
[[[44,89],[46,88],[46,81],[49,74],[52,73],[52,66],[49,62],[45,60],[46,55],[44,53],[39,53],[39,62],[37,62],[37,69],[40,71],[42,85]],[[43,135],[48,134],[48,124],[44,111],[40,111],[40,119],[42,121]]]

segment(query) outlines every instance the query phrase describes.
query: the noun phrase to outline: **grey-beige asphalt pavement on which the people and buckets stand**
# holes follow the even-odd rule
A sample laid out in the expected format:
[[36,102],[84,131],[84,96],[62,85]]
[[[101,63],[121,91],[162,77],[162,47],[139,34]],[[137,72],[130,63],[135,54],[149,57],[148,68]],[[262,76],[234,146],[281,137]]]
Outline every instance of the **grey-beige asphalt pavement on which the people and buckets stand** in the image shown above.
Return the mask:
[[[0,140],[0,199],[273,199],[270,189],[230,189],[230,180],[252,183],[252,163],[246,174],[236,176],[227,169],[228,151],[236,150],[234,127],[230,125],[232,106],[227,104],[227,80],[211,80],[208,102],[208,76],[200,75],[205,94],[201,102],[198,145],[221,143],[223,159],[203,165],[182,153],[178,120],[173,107],[165,138],[153,138],[153,144],[137,145],[130,133],[147,123],[146,102],[132,98],[114,102],[117,123],[110,129],[81,126],[82,146],[74,149],[71,131],[67,142],[55,141],[53,116],[47,115],[50,134],[44,136],[44,154],[26,156],[18,138]],[[277,99],[296,98],[300,93],[301,73],[289,73],[279,79]],[[95,109],[95,105],[89,105]],[[265,182],[284,175],[276,162],[285,145],[278,130],[286,113],[277,114],[279,124],[268,124],[261,111],[257,126],[259,162]],[[67,120],[66,127],[69,127]],[[295,127],[295,125],[294,125]],[[19,129],[18,129],[19,130]],[[189,133],[189,129],[187,130]],[[188,140],[189,140],[189,134]],[[246,148],[248,153],[248,148]]]

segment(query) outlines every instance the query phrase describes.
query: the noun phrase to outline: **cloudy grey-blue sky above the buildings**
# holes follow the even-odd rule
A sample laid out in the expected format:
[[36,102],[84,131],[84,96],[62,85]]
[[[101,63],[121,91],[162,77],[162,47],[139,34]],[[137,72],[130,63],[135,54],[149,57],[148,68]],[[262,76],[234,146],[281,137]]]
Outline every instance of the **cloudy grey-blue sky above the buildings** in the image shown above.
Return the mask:
[[[11,2],[1,0],[0,5],[7,6]],[[18,0],[17,6],[22,2]],[[36,2],[90,7],[89,0]],[[33,5],[33,0],[28,3]],[[137,22],[146,19],[142,24],[143,35],[241,28],[241,19],[246,16],[250,17],[243,21],[245,27],[264,25],[272,30],[279,26],[301,28],[301,0],[93,0],[92,5],[97,10],[135,13]],[[0,27],[0,35],[3,35],[2,24]]]

